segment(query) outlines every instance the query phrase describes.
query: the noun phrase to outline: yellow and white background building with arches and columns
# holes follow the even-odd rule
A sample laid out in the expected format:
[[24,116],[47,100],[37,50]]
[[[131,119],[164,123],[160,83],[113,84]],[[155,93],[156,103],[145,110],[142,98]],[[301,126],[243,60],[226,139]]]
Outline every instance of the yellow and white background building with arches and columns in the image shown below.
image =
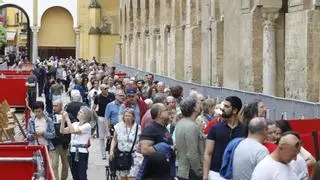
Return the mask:
[[73,56],[100,62],[114,61],[119,41],[118,0],[2,0],[29,19],[30,54],[48,58]]

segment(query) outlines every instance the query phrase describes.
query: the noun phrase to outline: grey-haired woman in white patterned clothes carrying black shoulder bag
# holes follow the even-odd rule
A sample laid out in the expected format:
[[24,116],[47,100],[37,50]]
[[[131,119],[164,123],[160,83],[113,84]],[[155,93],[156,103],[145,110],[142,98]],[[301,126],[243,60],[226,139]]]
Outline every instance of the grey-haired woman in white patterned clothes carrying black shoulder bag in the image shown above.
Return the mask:
[[[135,179],[140,164],[142,163],[142,157],[135,152],[138,147],[138,138],[141,134],[141,127],[135,122],[134,117],[134,110],[127,108],[124,111],[123,121],[114,126],[115,132],[111,142],[110,159],[116,158],[116,148],[121,152],[130,152],[133,147],[131,152],[133,164],[130,170],[119,171],[121,180]],[[137,137],[135,137],[136,134]]]

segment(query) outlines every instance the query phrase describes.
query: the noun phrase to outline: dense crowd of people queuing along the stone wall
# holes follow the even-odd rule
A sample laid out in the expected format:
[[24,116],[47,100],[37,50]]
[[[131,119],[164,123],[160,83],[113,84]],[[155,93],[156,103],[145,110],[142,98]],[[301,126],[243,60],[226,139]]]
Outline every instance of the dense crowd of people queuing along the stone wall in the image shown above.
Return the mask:
[[91,137],[121,179],[306,180],[316,164],[288,121],[266,119],[259,100],[217,102],[153,74],[119,77],[95,59],[71,57],[38,62],[26,85],[28,141],[48,147],[57,179],[69,167],[73,179],[87,179]]

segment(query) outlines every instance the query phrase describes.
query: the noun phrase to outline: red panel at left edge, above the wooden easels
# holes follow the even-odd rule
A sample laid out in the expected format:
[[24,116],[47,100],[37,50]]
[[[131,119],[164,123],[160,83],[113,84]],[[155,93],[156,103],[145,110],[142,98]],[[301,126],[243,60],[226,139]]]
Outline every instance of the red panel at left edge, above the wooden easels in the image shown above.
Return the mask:
[[0,71],[0,102],[7,100],[11,107],[25,107],[30,71]]

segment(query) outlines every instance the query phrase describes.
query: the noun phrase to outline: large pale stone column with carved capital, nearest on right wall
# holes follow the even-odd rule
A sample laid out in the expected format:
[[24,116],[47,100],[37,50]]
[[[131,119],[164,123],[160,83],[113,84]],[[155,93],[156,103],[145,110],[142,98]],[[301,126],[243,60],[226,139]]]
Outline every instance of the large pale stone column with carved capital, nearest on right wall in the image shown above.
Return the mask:
[[276,95],[275,20],[278,16],[277,11],[265,11],[263,13],[263,93],[268,95]]

